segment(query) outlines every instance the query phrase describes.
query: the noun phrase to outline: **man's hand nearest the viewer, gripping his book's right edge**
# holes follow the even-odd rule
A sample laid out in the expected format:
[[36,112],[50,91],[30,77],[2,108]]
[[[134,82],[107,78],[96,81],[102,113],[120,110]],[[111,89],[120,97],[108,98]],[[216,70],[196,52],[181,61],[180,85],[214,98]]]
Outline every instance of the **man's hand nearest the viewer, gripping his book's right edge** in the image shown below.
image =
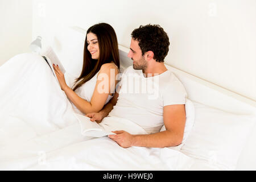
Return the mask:
[[127,133],[126,131],[112,131],[116,135],[109,135],[109,138],[117,142],[119,146],[123,148],[131,147],[133,144],[134,135]]

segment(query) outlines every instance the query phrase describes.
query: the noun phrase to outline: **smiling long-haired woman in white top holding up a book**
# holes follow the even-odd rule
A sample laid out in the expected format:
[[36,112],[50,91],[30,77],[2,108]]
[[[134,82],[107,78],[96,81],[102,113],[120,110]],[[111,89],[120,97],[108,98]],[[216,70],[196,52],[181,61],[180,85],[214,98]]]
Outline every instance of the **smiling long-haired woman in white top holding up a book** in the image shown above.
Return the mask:
[[61,89],[72,102],[77,113],[100,111],[113,97],[117,84],[115,76],[119,70],[117,36],[112,26],[99,23],[86,32],[84,64],[73,89],[66,84],[58,65],[53,65],[53,68]]

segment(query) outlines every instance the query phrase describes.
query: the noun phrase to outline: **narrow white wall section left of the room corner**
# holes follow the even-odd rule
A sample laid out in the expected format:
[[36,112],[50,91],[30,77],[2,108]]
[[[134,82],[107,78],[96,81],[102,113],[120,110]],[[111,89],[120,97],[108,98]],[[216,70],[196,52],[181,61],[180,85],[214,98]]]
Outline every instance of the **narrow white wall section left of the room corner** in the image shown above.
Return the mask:
[[0,66],[28,52],[32,40],[32,0],[0,0]]

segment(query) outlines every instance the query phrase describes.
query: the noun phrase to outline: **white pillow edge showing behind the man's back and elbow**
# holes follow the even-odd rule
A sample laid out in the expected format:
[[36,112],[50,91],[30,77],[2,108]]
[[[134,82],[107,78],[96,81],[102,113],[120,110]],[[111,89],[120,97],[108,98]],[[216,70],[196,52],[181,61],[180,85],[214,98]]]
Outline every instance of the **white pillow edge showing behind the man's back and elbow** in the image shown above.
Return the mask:
[[[184,134],[183,134],[183,139],[181,144],[179,144],[179,146],[175,146],[175,147],[170,147],[172,149],[176,149],[179,150],[185,140],[187,139],[193,125],[194,125],[194,121],[195,121],[195,107],[193,105],[193,102],[191,100],[186,100],[186,104],[185,104],[185,111],[186,111],[186,123],[185,123],[185,128],[184,128]],[[166,127],[163,125],[160,131],[165,131]]]

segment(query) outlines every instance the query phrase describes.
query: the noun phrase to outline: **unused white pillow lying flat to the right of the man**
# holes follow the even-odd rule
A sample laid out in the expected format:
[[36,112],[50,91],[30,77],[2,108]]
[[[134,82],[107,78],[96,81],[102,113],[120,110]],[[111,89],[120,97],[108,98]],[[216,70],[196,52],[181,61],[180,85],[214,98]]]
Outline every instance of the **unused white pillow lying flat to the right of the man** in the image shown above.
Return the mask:
[[256,117],[228,113],[195,101],[193,104],[195,125],[180,151],[221,169],[234,170]]

